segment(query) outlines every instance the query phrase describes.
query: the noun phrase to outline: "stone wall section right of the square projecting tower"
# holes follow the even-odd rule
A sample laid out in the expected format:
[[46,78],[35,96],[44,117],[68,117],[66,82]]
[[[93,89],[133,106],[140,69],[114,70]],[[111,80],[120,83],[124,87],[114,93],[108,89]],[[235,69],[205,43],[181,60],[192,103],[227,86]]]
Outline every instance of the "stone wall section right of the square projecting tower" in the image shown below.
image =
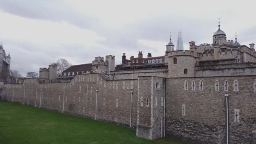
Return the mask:
[[[229,94],[229,142],[251,144],[256,130],[255,76],[169,78],[166,80],[166,134],[195,144],[224,144],[226,140],[226,100]],[[195,90],[192,82],[195,81]],[[200,90],[200,80],[203,88]],[[219,89],[216,90],[216,80]],[[228,91],[224,91],[224,81]],[[234,80],[238,90],[234,91]],[[185,90],[185,82],[188,88]],[[185,115],[183,106],[185,105]],[[240,110],[240,122],[234,122],[235,109]]]

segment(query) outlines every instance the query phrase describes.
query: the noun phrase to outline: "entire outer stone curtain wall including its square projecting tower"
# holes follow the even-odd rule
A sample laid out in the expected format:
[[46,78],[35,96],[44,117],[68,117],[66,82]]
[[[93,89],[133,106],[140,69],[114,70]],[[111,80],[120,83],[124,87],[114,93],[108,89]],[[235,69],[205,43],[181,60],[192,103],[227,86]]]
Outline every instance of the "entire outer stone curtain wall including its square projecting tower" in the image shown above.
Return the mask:
[[4,85],[8,101],[137,128],[136,135],[166,135],[195,144],[224,144],[229,94],[229,142],[251,144],[256,131],[256,76],[109,80],[76,75],[70,83]]

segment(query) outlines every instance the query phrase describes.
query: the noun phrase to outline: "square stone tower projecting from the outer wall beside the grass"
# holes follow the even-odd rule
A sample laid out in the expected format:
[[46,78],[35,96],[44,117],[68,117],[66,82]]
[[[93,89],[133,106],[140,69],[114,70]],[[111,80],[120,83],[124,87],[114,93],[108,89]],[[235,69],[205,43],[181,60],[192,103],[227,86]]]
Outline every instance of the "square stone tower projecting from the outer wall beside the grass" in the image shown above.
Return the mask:
[[139,77],[137,136],[145,139],[164,136],[164,100],[164,78]]

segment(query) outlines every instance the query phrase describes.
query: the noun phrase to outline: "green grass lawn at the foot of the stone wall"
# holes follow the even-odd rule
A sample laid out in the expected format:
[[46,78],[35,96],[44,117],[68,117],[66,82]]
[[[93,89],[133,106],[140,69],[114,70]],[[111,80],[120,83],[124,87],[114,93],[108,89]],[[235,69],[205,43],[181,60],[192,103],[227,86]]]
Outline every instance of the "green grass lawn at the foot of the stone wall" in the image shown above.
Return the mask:
[[45,109],[0,102],[0,144],[189,144],[149,141],[136,130]]

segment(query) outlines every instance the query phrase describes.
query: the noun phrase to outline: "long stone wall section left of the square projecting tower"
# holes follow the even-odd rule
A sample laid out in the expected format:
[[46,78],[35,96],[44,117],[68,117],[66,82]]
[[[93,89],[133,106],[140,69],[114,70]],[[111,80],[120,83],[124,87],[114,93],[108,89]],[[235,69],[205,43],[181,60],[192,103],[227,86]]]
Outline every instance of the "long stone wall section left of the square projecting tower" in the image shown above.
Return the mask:
[[25,79],[22,84],[5,85],[4,95],[8,101],[59,112],[64,104],[64,112],[126,126],[130,126],[131,118],[131,127],[136,127],[137,89],[137,80],[104,80],[98,74],[85,74],[76,75],[70,83],[38,83],[35,78]]

